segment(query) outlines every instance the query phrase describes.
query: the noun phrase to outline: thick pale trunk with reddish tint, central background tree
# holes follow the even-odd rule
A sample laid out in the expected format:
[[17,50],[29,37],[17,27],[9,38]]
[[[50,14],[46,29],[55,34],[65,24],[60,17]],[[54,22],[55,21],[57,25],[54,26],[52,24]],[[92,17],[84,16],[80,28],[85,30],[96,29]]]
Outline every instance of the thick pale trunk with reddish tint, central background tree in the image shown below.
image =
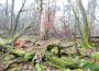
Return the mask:
[[41,37],[43,39],[47,39],[52,31],[56,34],[56,29],[54,28],[55,10],[53,10],[50,4],[50,0],[43,0],[40,27]]

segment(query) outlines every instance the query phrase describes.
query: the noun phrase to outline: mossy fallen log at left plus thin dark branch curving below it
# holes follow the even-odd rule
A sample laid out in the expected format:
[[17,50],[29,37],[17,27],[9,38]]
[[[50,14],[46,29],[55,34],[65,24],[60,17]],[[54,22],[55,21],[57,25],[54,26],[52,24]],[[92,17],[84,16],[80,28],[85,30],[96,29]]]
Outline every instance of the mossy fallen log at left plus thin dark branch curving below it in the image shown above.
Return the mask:
[[12,48],[10,50],[9,49],[10,49],[9,47],[0,46],[0,51],[4,54],[9,52],[10,55],[13,55],[15,58],[21,58],[22,60],[13,61],[2,71],[7,71],[14,63],[30,62],[33,60],[35,55],[34,52],[25,52],[24,50],[21,49],[12,49]]

